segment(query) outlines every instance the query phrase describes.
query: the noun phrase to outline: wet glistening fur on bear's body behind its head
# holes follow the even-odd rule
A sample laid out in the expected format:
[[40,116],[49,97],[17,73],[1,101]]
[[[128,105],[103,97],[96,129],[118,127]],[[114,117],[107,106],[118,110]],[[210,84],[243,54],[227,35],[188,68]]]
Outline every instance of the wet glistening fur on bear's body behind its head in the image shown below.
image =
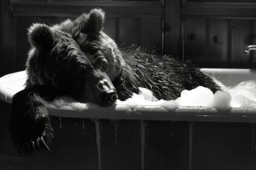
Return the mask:
[[[183,90],[198,86],[209,88],[213,93],[220,90],[211,77],[190,61],[181,62],[169,55],[159,55],[136,47],[122,49],[126,66],[113,82],[119,99],[125,100],[132,93],[139,93],[138,87],[148,88],[157,99],[173,100],[180,97]],[[146,83],[145,83],[146,82]]]

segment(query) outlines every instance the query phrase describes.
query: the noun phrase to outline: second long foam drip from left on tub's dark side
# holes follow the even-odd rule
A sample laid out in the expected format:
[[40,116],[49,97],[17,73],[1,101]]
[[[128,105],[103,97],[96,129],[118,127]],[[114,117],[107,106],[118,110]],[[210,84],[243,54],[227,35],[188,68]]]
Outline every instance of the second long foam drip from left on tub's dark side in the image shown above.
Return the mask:
[[144,170],[144,150],[145,150],[145,126],[144,120],[140,120],[140,170]]

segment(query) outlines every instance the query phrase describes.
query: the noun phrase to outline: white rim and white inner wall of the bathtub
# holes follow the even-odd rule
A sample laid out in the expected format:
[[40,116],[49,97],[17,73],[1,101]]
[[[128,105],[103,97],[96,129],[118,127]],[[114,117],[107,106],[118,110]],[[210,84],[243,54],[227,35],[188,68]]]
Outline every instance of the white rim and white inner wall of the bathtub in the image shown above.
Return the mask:
[[[203,68],[205,74],[218,79],[226,86],[237,85],[239,82],[256,79],[256,70]],[[24,71],[8,74],[0,78],[0,99],[11,103],[12,96],[21,89],[26,79]],[[15,85],[17,83],[17,85]],[[201,121],[201,122],[256,122],[255,108],[232,108],[228,112],[216,109],[179,107],[168,110],[160,106],[137,106],[130,108],[125,105],[102,108],[91,105],[87,111],[74,111],[71,107],[58,109],[51,102],[47,103],[49,114],[52,116],[89,118],[89,119],[139,119],[139,120],[169,120],[169,121]]]

